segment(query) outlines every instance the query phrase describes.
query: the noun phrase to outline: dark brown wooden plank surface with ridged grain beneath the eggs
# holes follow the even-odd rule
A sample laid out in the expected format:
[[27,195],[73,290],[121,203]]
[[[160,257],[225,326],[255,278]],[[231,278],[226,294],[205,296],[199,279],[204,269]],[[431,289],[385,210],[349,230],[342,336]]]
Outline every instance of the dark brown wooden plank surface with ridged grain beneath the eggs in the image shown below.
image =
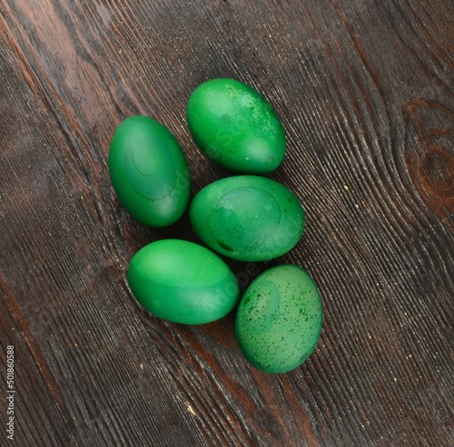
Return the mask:
[[[453,420],[451,0],[0,0],[0,445],[449,446]],[[243,359],[234,314],[179,326],[128,289],[144,228],[106,165],[125,117],[181,142],[192,195],[229,173],[193,143],[203,81],[280,114],[271,178],[301,199],[291,262],[321,289],[321,340],[289,374]],[[15,441],[6,350],[15,348]]]

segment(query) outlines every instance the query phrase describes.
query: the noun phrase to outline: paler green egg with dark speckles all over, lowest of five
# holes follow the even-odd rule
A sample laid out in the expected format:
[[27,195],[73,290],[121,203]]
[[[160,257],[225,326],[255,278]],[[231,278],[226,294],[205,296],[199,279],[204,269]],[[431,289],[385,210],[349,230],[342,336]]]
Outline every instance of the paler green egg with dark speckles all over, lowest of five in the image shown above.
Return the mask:
[[235,333],[242,354],[266,373],[287,373],[311,355],[321,335],[321,296],[301,267],[265,270],[246,290]]

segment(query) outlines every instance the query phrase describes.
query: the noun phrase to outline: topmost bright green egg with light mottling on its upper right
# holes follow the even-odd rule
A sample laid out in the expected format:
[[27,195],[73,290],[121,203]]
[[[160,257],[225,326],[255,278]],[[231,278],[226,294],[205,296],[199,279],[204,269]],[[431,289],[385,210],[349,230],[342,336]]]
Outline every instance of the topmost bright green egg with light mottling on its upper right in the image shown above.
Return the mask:
[[191,94],[192,138],[212,160],[245,174],[275,170],[285,154],[281,120],[259,92],[234,79],[212,79]]

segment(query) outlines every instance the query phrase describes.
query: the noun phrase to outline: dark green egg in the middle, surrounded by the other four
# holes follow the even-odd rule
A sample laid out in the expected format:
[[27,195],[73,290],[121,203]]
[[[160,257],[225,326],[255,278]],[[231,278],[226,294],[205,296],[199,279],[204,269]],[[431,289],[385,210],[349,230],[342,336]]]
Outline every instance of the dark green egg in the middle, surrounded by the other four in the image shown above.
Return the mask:
[[304,210],[290,189],[253,175],[209,184],[195,195],[189,215],[207,246],[241,261],[283,255],[300,240],[305,225]]

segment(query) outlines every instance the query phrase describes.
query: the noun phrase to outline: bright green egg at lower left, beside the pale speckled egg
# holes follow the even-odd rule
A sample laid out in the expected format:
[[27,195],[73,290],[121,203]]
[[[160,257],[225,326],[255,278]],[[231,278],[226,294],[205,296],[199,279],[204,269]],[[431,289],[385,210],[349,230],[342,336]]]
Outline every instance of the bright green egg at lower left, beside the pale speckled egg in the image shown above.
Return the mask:
[[239,299],[230,267],[208,248],[187,240],[161,239],[141,248],[127,278],[145,309],[173,323],[210,323],[228,315]]

